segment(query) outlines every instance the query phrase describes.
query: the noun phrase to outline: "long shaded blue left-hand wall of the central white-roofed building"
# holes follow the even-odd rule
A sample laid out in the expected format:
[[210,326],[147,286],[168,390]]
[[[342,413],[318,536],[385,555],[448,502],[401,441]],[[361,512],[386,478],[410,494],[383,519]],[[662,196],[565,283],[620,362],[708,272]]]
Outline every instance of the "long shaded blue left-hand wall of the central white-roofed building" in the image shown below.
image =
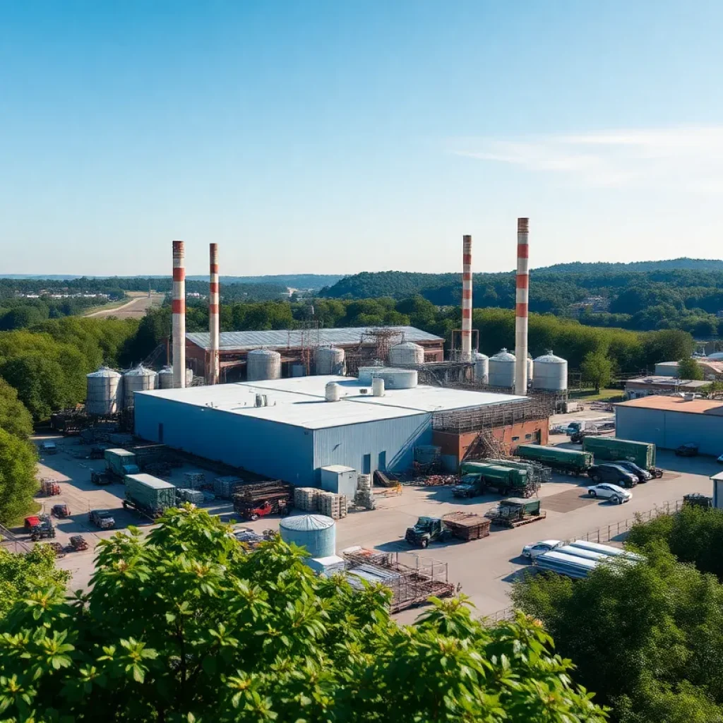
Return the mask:
[[292,484],[315,482],[314,437],[301,427],[139,394],[135,432],[145,440]]

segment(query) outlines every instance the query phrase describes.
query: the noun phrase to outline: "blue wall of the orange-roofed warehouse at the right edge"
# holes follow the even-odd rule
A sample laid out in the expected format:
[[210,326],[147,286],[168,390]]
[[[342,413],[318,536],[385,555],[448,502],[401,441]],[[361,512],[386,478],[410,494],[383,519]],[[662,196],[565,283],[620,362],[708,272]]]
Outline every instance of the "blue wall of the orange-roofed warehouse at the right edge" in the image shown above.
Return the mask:
[[619,406],[615,408],[615,436],[653,442],[669,450],[694,442],[701,454],[717,457],[723,453],[723,416]]

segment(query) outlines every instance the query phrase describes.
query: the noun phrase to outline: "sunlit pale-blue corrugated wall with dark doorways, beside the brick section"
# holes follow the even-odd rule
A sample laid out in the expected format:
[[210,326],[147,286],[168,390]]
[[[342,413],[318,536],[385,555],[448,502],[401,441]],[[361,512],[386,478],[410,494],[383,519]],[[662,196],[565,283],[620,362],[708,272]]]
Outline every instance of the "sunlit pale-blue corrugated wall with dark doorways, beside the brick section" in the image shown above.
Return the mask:
[[[431,442],[432,415],[427,413],[317,429],[314,466],[318,470],[330,464],[343,464],[358,472],[373,472],[380,469],[381,461],[389,471],[403,471],[414,461],[414,445]],[[365,455],[369,455],[368,469],[365,469]]]

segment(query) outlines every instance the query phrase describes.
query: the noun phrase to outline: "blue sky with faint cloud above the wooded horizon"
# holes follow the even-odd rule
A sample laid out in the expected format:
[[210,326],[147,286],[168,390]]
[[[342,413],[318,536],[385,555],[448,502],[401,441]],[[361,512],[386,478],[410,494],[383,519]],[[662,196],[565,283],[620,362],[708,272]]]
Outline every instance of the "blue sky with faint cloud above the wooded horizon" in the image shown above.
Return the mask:
[[0,273],[721,257],[723,2],[0,2]]

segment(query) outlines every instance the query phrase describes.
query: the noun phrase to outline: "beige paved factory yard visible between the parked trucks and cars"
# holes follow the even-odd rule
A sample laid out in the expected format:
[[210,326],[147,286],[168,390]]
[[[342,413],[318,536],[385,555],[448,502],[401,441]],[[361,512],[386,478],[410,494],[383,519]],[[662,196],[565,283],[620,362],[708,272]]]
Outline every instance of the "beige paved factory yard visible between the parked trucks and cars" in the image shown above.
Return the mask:
[[[82,458],[81,448],[74,438],[53,438],[58,442],[55,455],[42,458],[39,466],[41,477],[60,483],[61,494],[54,497],[38,497],[47,512],[53,505],[66,503],[71,516],[56,523],[56,541],[67,544],[72,534],[82,534],[89,543],[86,552],[69,552],[59,560],[59,566],[72,572],[71,589],[87,586],[93,574],[93,549],[98,540],[114,534],[113,530],[100,531],[90,525],[88,513],[93,509],[112,510],[116,529],[129,525],[149,528],[150,523],[131,511],[124,510],[121,502],[122,484],[96,487],[90,482],[91,471],[105,468],[103,460]],[[40,439],[40,438],[38,438]],[[551,442],[567,442],[566,437],[553,437]],[[424,557],[432,557],[448,564],[450,581],[461,584],[464,594],[471,598],[480,615],[493,615],[508,607],[510,582],[526,563],[519,557],[524,544],[538,539],[568,539],[602,529],[607,539],[624,531],[625,520],[636,513],[664,506],[666,502],[680,500],[689,492],[711,494],[709,476],[720,471],[716,461],[709,457],[677,458],[672,452],[659,450],[658,466],[665,470],[662,479],[638,484],[633,489],[633,499],[625,505],[612,505],[587,497],[583,493],[590,484],[586,477],[553,476],[552,482],[542,485],[539,496],[547,517],[539,522],[517,529],[497,530],[487,538],[473,542],[445,542],[432,544],[428,549],[414,550]],[[184,472],[199,471],[185,466],[174,469],[169,481],[182,486]],[[212,475],[213,476],[213,475]],[[454,510],[484,514],[500,500],[499,495],[486,495],[461,500],[453,497],[450,487],[419,487],[405,485],[398,497],[377,497],[376,510],[352,511],[337,523],[337,549],[361,545],[375,547],[387,552],[410,552],[404,542],[408,526],[422,515],[438,517]],[[221,515],[226,521],[234,517],[230,502],[209,502],[210,513]],[[261,518],[243,523],[254,530],[278,529],[279,518]],[[610,526],[608,530],[608,526]],[[22,538],[22,532],[16,531]],[[27,536],[25,536],[27,539]],[[402,620],[413,620],[417,611],[401,614]]]

